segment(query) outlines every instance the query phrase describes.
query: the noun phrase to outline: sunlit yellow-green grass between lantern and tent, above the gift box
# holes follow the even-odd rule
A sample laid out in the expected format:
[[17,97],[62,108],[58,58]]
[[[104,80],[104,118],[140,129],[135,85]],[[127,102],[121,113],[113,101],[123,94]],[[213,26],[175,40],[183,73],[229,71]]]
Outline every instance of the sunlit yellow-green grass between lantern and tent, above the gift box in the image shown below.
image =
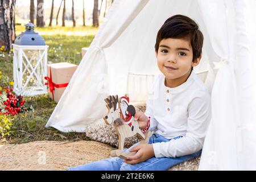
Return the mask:
[[[24,26],[16,26],[16,35],[24,31]],[[45,27],[35,31],[43,36],[48,48],[48,61],[52,63],[65,62],[79,64],[82,55],[81,48],[89,47],[97,28],[93,27]]]

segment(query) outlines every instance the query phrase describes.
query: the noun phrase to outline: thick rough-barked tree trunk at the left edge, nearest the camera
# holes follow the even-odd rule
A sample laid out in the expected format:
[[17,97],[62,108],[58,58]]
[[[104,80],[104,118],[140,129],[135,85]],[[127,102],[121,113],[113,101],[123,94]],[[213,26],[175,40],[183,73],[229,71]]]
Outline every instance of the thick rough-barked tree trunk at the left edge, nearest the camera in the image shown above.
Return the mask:
[[0,46],[7,51],[15,40],[15,0],[0,1]]

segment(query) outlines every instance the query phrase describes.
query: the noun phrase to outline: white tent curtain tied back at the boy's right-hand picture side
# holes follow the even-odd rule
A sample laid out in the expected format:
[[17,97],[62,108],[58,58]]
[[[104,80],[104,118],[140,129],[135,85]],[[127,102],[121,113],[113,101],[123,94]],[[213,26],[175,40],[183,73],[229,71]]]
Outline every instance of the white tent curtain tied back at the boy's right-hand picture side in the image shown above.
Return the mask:
[[[255,126],[256,122],[255,81],[250,69],[251,52],[246,29],[246,8],[249,10],[249,7],[243,0],[212,1],[210,3],[218,7],[218,13],[210,17],[209,11],[203,9],[205,3],[200,1],[207,27],[223,31],[222,34],[212,32],[209,35],[214,51],[224,61],[212,90],[212,121],[205,138],[199,169],[256,169],[255,127],[250,127],[250,132],[247,128],[248,123]],[[215,39],[220,35],[225,38]]]

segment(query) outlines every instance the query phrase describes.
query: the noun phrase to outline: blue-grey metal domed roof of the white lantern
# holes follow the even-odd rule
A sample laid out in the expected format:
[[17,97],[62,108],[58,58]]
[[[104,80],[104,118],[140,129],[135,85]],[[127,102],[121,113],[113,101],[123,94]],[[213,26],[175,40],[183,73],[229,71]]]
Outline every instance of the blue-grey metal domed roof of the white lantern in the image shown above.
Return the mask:
[[46,46],[43,37],[34,32],[35,25],[33,23],[25,24],[26,31],[16,37],[14,44],[20,46]]

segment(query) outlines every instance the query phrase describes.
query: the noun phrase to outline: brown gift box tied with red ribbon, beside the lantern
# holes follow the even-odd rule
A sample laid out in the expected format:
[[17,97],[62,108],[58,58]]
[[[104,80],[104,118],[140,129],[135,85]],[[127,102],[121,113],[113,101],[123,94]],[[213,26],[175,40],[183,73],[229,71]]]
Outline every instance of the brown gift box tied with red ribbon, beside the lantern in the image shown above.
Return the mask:
[[49,97],[59,102],[60,97],[68,86],[77,65],[71,63],[47,64],[46,85],[49,86]]

